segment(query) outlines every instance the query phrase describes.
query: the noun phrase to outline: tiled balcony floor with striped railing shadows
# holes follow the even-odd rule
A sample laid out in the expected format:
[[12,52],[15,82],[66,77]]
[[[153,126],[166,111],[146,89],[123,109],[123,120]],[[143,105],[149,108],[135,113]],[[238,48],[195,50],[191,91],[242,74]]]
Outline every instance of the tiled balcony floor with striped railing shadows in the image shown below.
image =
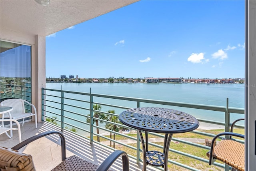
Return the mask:
[[[16,127],[16,125],[14,125]],[[38,128],[35,128],[34,122],[26,122],[24,126],[21,126],[21,138],[22,141],[42,133],[45,131],[60,131],[58,127],[51,125],[46,122],[38,123]],[[107,149],[104,146],[98,145],[96,143],[90,144],[90,141],[82,137],[78,137],[73,133],[64,131],[64,137],[66,138],[66,156],[77,155],[86,161],[100,165],[108,155],[113,151]],[[8,138],[5,133],[0,135],[0,146],[2,147],[14,147],[18,144],[18,131],[13,131],[13,137]],[[40,138],[29,145],[23,147],[19,151],[23,153],[30,154],[33,157],[34,165],[37,171],[50,171],[56,165],[61,162],[61,148],[60,148],[60,138],[59,135],[50,135]],[[139,165],[136,164],[134,159],[130,159],[130,171],[141,171],[142,162]],[[122,159],[121,157],[114,163],[111,167],[114,171],[122,170]],[[156,171],[155,167],[147,166],[148,171]]]

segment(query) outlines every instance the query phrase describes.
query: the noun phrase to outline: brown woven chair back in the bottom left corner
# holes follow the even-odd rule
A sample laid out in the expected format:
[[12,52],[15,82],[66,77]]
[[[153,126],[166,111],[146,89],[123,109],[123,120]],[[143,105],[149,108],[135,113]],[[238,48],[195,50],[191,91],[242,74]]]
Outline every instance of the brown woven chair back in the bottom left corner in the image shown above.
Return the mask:
[[1,171],[35,171],[31,155],[0,147]]

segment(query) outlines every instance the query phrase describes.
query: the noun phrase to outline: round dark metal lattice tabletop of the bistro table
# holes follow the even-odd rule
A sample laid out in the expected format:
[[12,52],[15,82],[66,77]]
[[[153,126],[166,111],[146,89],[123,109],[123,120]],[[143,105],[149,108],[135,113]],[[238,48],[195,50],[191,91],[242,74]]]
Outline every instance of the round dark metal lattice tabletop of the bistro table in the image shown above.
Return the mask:
[[159,107],[129,109],[120,113],[119,120],[132,128],[157,133],[184,133],[199,126],[188,113]]

